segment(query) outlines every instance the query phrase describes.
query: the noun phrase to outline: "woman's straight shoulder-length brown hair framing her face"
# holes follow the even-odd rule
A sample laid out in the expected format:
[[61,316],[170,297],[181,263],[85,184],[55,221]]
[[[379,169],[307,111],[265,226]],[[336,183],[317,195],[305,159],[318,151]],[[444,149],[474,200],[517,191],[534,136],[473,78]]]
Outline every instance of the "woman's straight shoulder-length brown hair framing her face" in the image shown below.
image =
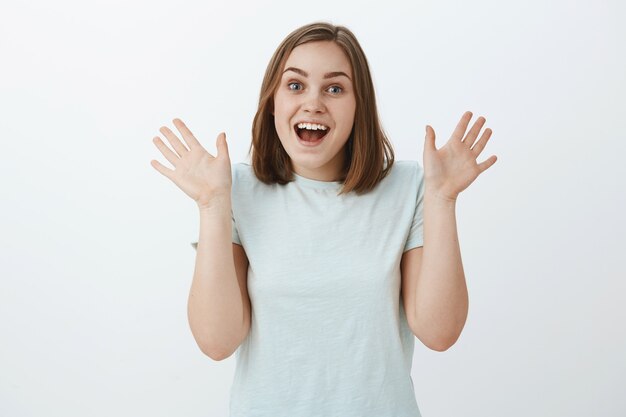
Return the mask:
[[352,132],[344,147],[343,186],[339,194],[350,191],[363,194],[372,190],[388,174],[394,161],[393,147],[378,118],[374,85],[359,42],[348,28],[324,22],[302,26],[291,32],[278,46],[267,66],[248,151],[252,153],[254,174],[266,184],[283,185],[294,179],[291,160],[280,143],[274,125],[274,94],[291,51],[299,45],[315,41],[335,42],[343,49],[352,66],[356,111]]

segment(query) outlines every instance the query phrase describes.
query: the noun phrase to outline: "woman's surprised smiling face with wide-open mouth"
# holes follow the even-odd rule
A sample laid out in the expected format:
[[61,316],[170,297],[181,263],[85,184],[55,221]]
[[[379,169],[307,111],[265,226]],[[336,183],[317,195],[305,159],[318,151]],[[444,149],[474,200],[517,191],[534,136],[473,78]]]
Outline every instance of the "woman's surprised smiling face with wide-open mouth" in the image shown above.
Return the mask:
[[352,67],[332,41],[297,46],[274,95],[274,124],[296,174],[337,181],[354,125]]

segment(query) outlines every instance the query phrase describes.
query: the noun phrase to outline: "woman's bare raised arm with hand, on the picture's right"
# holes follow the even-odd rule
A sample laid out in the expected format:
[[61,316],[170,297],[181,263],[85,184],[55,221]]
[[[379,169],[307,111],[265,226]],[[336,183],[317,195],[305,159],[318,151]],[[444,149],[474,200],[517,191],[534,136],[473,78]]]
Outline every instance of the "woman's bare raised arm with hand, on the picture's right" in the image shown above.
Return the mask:
[[465,112],[450,140],[440,149],[435,147],[435,131],[426,126],[424,247],[407,251],[402,257],[407,320],[426,346],[439,351],[456,342],[469,307],[456,227],[456,200],[497,160],[492,155],[476,162],[492,131],[485,129],[478,138],[486,119],[479,117],[467,131],[471,118],[472,113]]

